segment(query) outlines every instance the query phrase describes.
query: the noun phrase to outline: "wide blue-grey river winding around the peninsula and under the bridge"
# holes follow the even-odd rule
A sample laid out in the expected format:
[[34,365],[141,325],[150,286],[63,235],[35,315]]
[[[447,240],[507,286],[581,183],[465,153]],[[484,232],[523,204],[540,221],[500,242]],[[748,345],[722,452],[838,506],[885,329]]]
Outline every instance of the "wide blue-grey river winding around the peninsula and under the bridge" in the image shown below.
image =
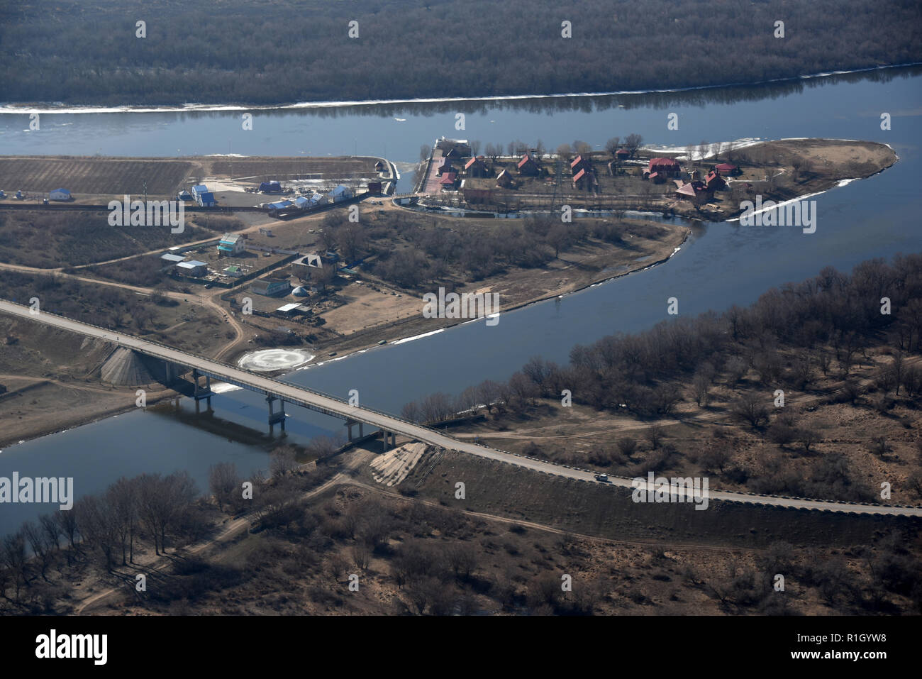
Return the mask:
[[[849,269],[869,257],[918,251],[922,177],[922,68],[818,77],[795,83],[676,93],[573,96],[516,101],[448,101],[349,105],[254,112],[243,131],[240,112],[0,114],[0,154],[177,156],[237,153],[297,156],[383,155],[411,168],[420,145],[435,137],[483,143],[541,139],[549,149],[613,136],[685,146],[748,137],[835,137],[890,144],[900,157],[867,180],[815,197],[815,233],[794,228],[703,224],[667,263],[561,299],[504,313],[498,325],[469,323],[320,363],[286,377],[293,383],[399,413],[433,391],[458,393],[483,379],[502,380],[529,356],[565,362],[573,344],[616,331],[648,328],[666,317],[668,297],[681,315],[749,304],[768,288],[803,280],[825,266]],[[455,129],[455,113],[466,129]],[[678,113],[679,130],[668,130]],[[881,130],[881,113],[892,129]],[[399,188],[412,185],[407,170]],[[2,186],[7,192],[16,186]],[[396,338],[395,338],[396,339]],[[0,476],[74,477],[76,494],[103,489],[120,476],[187,470],[207,489],[208,467],[231,460],[242,473],[266,469],[266,403],[236,390],[212,399],[195,417],[189,399],[179,412],[135,411],[7,447]],[[204,408],[204,404],[203,404]],[[341,431],[338,420],[289,407],[289,440]],[[15,426],[0,423],[5,429]],[[278,429],[276,431],[278,436]],[[0,505],[0,534],[51,506]]]

